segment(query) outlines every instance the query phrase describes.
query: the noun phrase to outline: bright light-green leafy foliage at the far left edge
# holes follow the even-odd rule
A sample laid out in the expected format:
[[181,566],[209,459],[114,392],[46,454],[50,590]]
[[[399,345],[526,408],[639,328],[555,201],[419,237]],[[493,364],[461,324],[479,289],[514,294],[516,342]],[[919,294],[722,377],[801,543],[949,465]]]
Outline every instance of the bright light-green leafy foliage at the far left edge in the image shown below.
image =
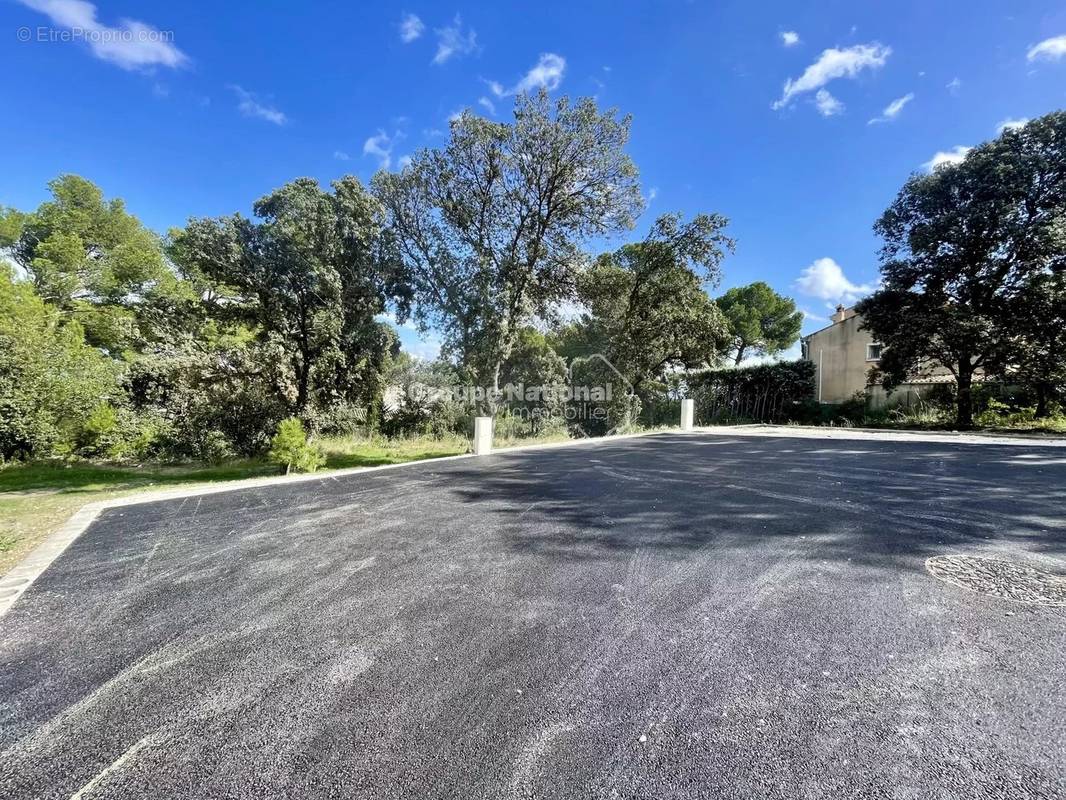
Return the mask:
[[0,457],[70,452],[101,400],[120,395],[116,365],[0,266]]

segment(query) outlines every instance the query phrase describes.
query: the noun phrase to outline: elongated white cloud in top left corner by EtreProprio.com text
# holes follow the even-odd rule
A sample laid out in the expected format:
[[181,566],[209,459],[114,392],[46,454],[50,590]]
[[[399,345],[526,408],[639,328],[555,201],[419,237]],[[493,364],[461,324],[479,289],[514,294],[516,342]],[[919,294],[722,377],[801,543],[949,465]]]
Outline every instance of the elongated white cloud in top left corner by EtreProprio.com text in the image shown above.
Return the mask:
[[119,19],[117,27],[103,25],[96,18],[96,6],[85,0],[18,1],[77,34],[74,38],[85,42],[96,58],[123,69],[173,68],[189,62],[174,46],[173,31],[160,31],[135,19]]

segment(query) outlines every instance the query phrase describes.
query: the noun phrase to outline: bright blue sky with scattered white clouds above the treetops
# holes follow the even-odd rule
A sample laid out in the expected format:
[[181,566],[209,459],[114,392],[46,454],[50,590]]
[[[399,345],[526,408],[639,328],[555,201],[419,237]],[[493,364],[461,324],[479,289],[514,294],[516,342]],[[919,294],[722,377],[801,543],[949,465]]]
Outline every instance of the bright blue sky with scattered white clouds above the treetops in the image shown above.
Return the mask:
[[805,331],[876,281],[871,226],[910,172],[1066,107],[1061,0],[0,0],[0,31],[2,204],[72,172],[160,231],[247,213],[297,176],[397,169],[455,111],[505,118],[544,84],[633,115],[634,237],[666,211],[726,214],[739,245],[714,293],[766,281]]

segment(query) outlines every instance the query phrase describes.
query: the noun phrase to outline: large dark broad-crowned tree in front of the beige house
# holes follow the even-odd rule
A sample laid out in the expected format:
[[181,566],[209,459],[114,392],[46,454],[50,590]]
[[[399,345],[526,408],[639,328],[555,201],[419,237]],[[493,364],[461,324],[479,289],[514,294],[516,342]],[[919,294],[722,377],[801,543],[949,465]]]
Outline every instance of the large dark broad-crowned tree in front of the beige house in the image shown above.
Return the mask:
[[1014,311],[1066,267],[1066,113],[912,176],[874,229],[882,288],[856,306],[885,349],[886,388],[937,365],[955,378],[956,422],[973,423],[973,378],[1023,357]]

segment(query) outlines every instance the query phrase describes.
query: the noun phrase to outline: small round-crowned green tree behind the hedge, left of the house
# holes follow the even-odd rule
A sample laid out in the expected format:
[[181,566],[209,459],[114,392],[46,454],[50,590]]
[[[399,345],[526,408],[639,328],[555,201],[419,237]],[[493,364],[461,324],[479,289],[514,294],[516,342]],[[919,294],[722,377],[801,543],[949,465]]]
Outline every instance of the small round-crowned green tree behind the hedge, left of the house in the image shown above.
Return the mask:
[[729,325],[738,367],[745,355],[774,355],[800,338],[803,314],[796,310],[795,301],[761,281],[730,289],[715,303]]

